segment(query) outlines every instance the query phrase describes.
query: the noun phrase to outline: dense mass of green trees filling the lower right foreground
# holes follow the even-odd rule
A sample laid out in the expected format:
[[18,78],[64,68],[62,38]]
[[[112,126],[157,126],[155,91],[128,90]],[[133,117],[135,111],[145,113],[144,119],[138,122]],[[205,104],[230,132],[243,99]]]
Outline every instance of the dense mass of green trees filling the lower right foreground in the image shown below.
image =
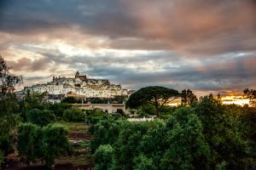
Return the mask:
[[127,122],[111,116],[97,122],[90,128],[96,168],[253,169],[255,166],[252,122],[255,108],[222,105],[210,94],[170,114],[166,120],[154,122]]

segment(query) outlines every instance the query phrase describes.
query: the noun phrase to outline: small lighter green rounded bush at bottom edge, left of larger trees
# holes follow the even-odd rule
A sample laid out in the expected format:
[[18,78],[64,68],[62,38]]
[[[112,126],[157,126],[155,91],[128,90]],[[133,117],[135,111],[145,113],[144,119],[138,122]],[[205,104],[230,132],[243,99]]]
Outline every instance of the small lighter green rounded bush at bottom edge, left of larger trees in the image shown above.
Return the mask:
[[102,144],[95,152],[96,170],[110,169],[113,158],[113,147],[110,144]]

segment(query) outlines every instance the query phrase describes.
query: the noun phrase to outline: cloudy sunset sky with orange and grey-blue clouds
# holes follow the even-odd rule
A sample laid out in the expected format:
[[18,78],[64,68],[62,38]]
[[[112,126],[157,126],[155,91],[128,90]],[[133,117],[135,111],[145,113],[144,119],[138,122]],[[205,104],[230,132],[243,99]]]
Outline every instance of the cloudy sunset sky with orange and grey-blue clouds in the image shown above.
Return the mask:
[[1,0],[0,54],[23,86],[52,77],[197,95],[256,88],[255,0]]

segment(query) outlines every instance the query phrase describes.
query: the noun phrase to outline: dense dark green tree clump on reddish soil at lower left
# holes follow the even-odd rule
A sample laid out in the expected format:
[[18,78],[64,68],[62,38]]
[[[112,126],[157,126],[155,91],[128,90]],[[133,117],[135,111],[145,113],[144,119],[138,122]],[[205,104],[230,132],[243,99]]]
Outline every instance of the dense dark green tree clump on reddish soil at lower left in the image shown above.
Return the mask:
[[55,163],[55,157],[71,153],[67,128],[60,124],[38,127],[22,124],[18,129],[18,151],[26,163],[44,161],[47,167]]

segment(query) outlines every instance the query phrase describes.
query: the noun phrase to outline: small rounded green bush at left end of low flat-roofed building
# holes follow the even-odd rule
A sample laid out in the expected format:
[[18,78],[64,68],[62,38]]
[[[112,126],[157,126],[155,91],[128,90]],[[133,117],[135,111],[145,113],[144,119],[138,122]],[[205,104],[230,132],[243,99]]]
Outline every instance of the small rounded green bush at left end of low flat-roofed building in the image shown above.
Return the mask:
[[67,122],[84,122],[84,113],[78,107],[72,107],[64,111],[63,119]]

